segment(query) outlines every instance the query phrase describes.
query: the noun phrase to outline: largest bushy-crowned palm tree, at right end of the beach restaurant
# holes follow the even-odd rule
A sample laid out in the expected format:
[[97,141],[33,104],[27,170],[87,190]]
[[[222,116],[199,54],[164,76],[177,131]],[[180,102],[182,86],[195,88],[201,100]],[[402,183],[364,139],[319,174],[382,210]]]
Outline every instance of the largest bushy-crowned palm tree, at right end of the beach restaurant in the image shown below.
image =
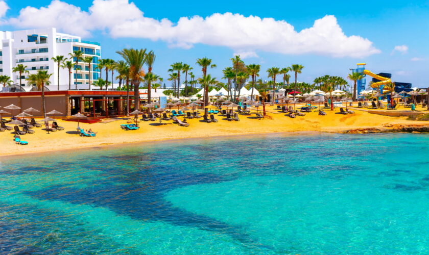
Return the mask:
[[143,66],[146,63],[146,49],[123,49],[121,52],[116,52],[121,55],[125,62],[130,66],[130,81],[134,86],[134,108],[140,110],[140,94],[138,91],[138,85],[140,85],[140,79],[145,76]]

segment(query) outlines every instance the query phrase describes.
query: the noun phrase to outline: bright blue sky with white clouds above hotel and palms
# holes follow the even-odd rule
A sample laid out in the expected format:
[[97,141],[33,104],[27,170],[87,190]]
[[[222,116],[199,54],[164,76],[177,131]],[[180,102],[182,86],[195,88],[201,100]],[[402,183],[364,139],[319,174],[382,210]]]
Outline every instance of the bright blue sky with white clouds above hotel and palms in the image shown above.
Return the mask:
[[[261,64],[260,78],[265,80],[267,80],[265,70],[272,66],[302,64],[305,68],[299,75],[299,80],[311,82],[324,74],[345,77],[349,68],[353,68],[356,63],[365,62],[367,69],[373,72],[391,72],[393,81],[411,82],[413,87],[427,87],[429,62],[426,46],[429,39],[429,2],[427,1],[414,1],[414,3],[360,1],[359,5],[349,1],[314,1],[314,3],[306,1],[266,3],[263,1],[245,3],[133,1],[133,3],[127,0],[93,2],[65,0],[57,1],[56,5],[53,5],[51,1],[45,0],[7,0],[6,4],[10,9],[3,15],[0,27],[2,30],[30,29],[46,27],[49,24],[50,27],[57,27],[60,32],[79,33],[87,40],[100,42],[103,57],[115,60],[119,59],[115,50],[124,47],[152,49],[157,55],[154,71],[165,80],[168,77],[166,70],[169,65],[178,61],[192,65],[195,69],[194,73],[199,75],[200,70],[195,65],[195,60],[205,56],[212,58],[218,65],[218,68],[210,72],[221,78],[221,71],[224,67],[231,65],[229,59],[233,54],[245,53],[249,55],[244,59],[246,64]],[[33,12],[21,11],[28,6],[35,8]],[[43,11],[40,11],[41,7],[44,7]],[[82,15],[79,17],[83,21],[65,21],[62,19],[63,13],[55,17],[60,15],[58,10],[76,12],[78,16]],[[116,11],[113,12],[113,10]],[[142,13],[139,13],[140,11]],[[243,16],[224,15],[227,12]],[[206,18],[213,13],[222,14],[213,20],[216,28],[212,30],[204,29],[208,27],[202,28],[202,25],[210,27],[213,24]],[[0,9],[1,14],[2,9]],[[46,14],[49,14],[52,19],[44,18]],[[201,20],[192,18],[195,15],[200,16]],[[256,21],[254,23],[254,20],[247,18],[250,15],[273,18],[273,20],[269,23]],[[329,18],[325,17],[326,15],[332,16]],[[176,27],[181,17],[188,17],[187,20],[192,20],[193,23],[189,26],[182,24]],[[158,23],[153,24],[162,19],[168,19],[171,24],[166,27]],[[315,21],[321,19],[323,21],[317,31],[310,30],[306,35],[294,34],[303,29],[312,28]],[[115,22],[111,22],[112,20]],[[282,23],[280,20],[287,23]],[[222,21],[225,23],[222,24]],[[239,28],[234,28],[235,21],[242,22]],[[117,27],[121,22],[125,27]],[[128,22],[132,22],[138,29],[124,29],[130,27]],[[109,24],[104,25],[105,23]],[[259,30],[255,29],[255,31],[272,33],[265,36],[252,35],[252,28],[259,25]],[[282,26],[279,28],[288,28],[292,25],[295,32],[277,34],[278,31],[274,27],[276,25]],[[336,25],[339,31],[335,28]],[[146,31],[145,28],[150,29]],[[160,31],[154,33],[153,29],[156,28],[160,28]],[[333,31],[328,32],[332,28],[334,28]],[[234,35],[237,31],[242,32],[241,29],[245,30],[243,36],[235,38]],[[344,33],[344,36],[338,35],[338,32]],[[201,34],[204,36],[194,40]],[[316,34],[322,34],[322,37],[326,38],[319,41],[317,38],[320,37],[316,37]],[[350,36],[359,36],[360,39]],[[339,42],[343,39],[344,43]],[[301,47],[301,44],[309,46]],[[397,50],[394,50],[395,47]]]

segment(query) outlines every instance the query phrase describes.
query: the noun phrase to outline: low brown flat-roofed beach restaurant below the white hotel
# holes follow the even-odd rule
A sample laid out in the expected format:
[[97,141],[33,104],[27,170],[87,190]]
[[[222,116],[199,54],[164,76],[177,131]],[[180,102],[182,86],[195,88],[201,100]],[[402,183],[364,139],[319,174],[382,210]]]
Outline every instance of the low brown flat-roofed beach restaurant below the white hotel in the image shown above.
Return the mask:
[[[39,117],[43,115],[41,94],[41,91],[0,93],[0,107],[14,104],[21,111],[32,107],[40,111],[32,113]],[[57,110],[62,113],[56,116],[67,117],[80,112],[88,117],[104,118],[125,115],[127,110],[127,91],[60,90],[45,91],[44,94],[46,112]],[[130,109],[134,109],[132,91],[129,92],[129,103]]]

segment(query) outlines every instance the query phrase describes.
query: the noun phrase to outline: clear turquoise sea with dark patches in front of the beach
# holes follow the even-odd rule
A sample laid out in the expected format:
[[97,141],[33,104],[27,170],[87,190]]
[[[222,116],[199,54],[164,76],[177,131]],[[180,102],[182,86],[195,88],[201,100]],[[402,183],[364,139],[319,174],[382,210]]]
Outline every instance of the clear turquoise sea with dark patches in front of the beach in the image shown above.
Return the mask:
[[428,145],[302,133],[0,158],[0,253],[428,254]]

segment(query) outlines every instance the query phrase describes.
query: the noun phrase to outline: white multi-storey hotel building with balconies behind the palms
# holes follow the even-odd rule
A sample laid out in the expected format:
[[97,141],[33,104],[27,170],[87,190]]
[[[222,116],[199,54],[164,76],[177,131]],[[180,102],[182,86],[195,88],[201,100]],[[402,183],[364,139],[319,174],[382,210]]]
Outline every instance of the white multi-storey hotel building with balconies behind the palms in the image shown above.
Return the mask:
[[[58,65],[52,60],[56,56],[69,58],[69,53],[81,50],[83,57],[93,57],[91,64],[91,77],[89,77],[88,64],[79,62],[77,69],[78,88],[87,88],[88,79],[93,81],[100,77],[97,67],[101,58],[101,47],[99,43],[81,40],[79,36],[57,33],[55,28],[30,29],[20,31],[0,31],[0,75],[8,75],[14,84],[19,84],[19,74],[12,72],[18,64],[27,66],[30,74],[37,70],[48,70],[53,73],[51,77],[50,90],[56,90],[58,85]],[[73,63],[74,59],[69,59]],[[76,68],[76,66],[75,66]],[[75,89],[75,68],[71,74],[71,89]],[[22,85],[27,86],[25,78],[28,73],[22,74]],[[29,85],[30,86],[30,85]],[[32,86],[27,87],[30,90]],[[60,68],[60,90],[68,89],[68,69]]]

